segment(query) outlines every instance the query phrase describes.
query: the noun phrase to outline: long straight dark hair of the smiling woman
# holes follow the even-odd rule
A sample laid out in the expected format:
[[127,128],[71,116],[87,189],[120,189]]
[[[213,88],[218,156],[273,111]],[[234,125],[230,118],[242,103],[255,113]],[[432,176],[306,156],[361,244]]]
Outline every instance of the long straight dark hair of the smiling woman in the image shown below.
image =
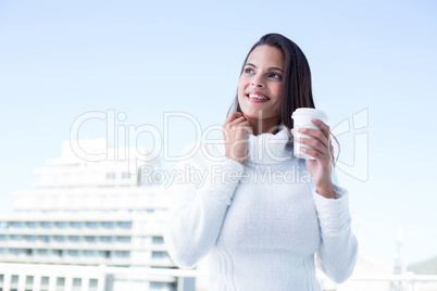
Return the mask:
[[[291,114],[295,110],[299,107],[311,107],[314,109],[314,100],[311,87],[311,69],[308,63],[307,56],[303,54],[302,50],[292,42],[290,39],[286,38],[279,34],[267,34],[258,40],[253,47],[249,50],[246,55],[245,62],[242,63],[240,75],[242,74],[249,54],[259,46],[266,45],[279,49],[283,52],[285,64],[284,64],[284,77],[283,77],[283,88],[280,92],[280,105],[279,105],[279,124],[284,124],[288,130],[294,128],[294,122]],[[234,99],[232,109],[237,112],[241,112],[240,104],[238,102],[238,90]],[[229,110],[229,112],[232,111]],[[228,112],[228,114],[229,114]],[[334,137],[334,135],[333,135]],[[339,142],[336,140],[338,148]],[[330,149],[334,163],[334,151]],[[339,152],[338,152],[339,155]],[[338,160],[337,155],[337,160]],[[335,162],[336,163],[336,162]],[[334,164],[335,164],[334,163]]]

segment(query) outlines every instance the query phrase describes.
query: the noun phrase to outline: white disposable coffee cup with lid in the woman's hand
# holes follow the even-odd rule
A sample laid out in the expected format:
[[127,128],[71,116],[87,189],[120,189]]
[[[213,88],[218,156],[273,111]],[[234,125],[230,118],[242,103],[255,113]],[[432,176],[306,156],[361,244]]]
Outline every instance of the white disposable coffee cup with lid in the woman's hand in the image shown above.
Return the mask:
[[[326,113],[324,113],[321,110],[316,110],[316,109],[307,109],[307,107],[297,109],[291,114],[291,118],[294,119],[294,126],[295,126],[294,136],[297,138],[314,139],[313,137],[298,132],[298,129],[300,129],[300,128],[313,128],[313,129],[321,130],[317,126],[315,126],[311,122],[312,118],[320,119],[325,124],[328,123]],[[313,148],[310,146],[302,144],[300,142],[295,141],[294,152],[295,152],[296,157],[315,160],[311,155],[308,155],[308,154],[301,152],[300,147],[304,147],[304,148],[313,150]]]

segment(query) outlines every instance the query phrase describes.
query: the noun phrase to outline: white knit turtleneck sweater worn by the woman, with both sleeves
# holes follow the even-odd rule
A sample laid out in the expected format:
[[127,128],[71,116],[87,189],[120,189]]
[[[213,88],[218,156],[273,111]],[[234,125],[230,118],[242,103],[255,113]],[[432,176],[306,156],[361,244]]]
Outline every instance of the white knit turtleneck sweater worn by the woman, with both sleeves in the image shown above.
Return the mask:
[[276,135],[249,135],[244,164],[224,157],[223,142],[203,144],[180,163],[190,180],[174,182],[164,239],[182,268],[209,254],[211,291],[320,291],[315,253],[332,280],[351,275],[358,245],[348,192],[334,174],[338,199],[316,193],[289,140],[283,127]]

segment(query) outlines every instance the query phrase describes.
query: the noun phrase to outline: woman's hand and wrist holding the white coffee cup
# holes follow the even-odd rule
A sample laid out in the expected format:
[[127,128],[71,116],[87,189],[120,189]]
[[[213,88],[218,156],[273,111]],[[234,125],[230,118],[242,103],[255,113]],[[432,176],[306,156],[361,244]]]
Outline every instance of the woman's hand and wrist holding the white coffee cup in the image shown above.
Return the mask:
[[[300,150],[313,156],[315,160],[307,159],[307,166],[314,179],[317,193],[325,198],[335,198],[333,182],[330,180],[332,144],[329,141],[329,126],[320,119],[311,121],[321,130],[312,128],[300,128],[299,134],[304,134],[310,138],[296,138],[295,141],[310,146],[314,150],[301,147]],[[295,136],[294,129],[291,135]]]

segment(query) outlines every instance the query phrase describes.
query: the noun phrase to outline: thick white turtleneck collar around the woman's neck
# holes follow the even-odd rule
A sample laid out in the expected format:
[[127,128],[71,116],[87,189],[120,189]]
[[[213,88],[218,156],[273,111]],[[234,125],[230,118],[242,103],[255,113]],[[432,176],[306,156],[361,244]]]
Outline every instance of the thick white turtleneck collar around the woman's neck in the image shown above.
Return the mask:
[[276,135],[261,134],[248,137],[248,157],[245,161],[257,164],[278,164],[292,159],[291,135],[280,125]]

